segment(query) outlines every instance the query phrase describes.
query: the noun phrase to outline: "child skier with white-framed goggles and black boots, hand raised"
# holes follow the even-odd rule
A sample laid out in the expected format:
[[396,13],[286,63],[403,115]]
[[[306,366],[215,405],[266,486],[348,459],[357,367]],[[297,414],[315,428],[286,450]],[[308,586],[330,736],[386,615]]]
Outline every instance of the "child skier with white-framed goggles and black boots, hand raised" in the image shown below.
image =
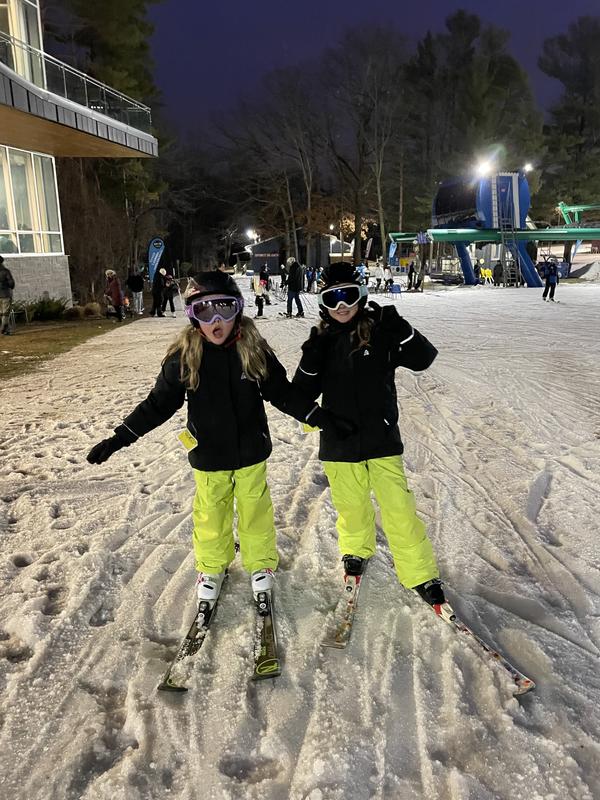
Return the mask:
[[[323,322],[302,346],[293,383],[313,399],[323,395],[323,408],[307,421],[322,429],[319,457],[338,513],[346,575],[361,575],[375,552],[373,491],[400,583],[432,606],[443,604],[433,549],[404,474],[394,385],[397,367],[427,369],[437,350],[393,306],[367,308],[367,287],[350,264],[333,264],[323,279]],[[355,431],[340,439],[323,424],[327,412],[339,413]]]

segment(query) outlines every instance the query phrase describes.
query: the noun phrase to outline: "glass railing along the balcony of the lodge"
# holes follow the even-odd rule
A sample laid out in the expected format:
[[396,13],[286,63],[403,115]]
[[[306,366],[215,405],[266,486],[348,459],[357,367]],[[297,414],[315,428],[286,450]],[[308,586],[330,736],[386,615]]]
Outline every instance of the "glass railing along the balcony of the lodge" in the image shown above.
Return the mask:
[[53,56],[36,50],[0,31],[0,62],[31,83],[53,94],[130,125],[151,132],[150,109],[105,86]]

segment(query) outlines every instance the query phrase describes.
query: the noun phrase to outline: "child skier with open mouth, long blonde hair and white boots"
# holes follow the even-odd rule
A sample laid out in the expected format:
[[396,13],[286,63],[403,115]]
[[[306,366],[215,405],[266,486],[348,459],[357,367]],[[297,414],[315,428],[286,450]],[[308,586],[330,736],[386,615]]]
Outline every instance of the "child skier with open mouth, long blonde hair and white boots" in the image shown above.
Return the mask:
[[[101,464],[162,425],[187,397],[189,461],[194,469],[193,545],[199,601],[214,602],[234,558],[233,508],[242,564],[252,591],[269,591],[278,556],[266,481],[271,439],[263,398],[301,421],[314,407],[287,380],[285,369],[254,323],[229,275],[200,273],[184,294],[191,325],[171,345],[156,385],[137,408],[89,452]],[[351,430],[327,412],[325,426]]]

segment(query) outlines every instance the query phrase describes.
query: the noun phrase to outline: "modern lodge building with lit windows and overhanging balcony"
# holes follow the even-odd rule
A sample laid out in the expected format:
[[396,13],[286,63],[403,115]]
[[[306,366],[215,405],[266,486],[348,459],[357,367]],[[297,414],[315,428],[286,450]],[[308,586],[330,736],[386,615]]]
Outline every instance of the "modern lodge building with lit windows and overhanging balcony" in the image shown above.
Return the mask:
[[0,0],[0,254],[15,298],[71,304],[55,156],[153,157],[150,109],[44,53],[39,0]]

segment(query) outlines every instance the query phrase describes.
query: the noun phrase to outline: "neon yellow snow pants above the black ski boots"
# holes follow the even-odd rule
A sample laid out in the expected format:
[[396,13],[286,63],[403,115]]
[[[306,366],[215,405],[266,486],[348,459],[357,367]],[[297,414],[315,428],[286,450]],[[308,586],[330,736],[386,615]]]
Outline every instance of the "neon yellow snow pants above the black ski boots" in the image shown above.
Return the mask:
[[348,463],[324,461],[331,499],[338,513],[338,544],[342,554],[370,558],[375,553],[375,511],[371,491],[381,510],[398,580],[411,589],[439,577],[425,524],[408,488],[401,456]]

